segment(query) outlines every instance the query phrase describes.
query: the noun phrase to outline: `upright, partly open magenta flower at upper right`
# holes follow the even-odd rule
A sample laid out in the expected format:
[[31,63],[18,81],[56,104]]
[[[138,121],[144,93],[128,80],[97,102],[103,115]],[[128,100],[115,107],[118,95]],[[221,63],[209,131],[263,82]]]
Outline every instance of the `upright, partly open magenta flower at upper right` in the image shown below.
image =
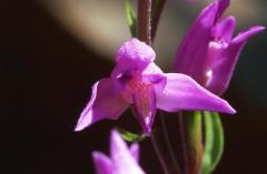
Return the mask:
[[229,0],[216,0],[198,16],[181,41],[175,71],[194,78],[215,94],[228,88],[233,71],[244,44],[264,27],[253,27],[233,39],[234,17],[220,19]]

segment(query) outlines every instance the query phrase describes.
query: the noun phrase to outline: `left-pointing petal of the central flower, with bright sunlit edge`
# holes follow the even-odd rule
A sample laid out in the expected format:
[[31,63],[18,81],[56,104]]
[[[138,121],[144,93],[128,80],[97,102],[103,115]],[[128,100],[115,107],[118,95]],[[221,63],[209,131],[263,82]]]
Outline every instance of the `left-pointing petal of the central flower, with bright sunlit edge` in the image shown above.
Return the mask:
[[93,84],[91,100],[82,111],[75,131],[81,131],[102,119],[116,120],[128,105],[121,95],[113,92],[111,80],[102,79]]

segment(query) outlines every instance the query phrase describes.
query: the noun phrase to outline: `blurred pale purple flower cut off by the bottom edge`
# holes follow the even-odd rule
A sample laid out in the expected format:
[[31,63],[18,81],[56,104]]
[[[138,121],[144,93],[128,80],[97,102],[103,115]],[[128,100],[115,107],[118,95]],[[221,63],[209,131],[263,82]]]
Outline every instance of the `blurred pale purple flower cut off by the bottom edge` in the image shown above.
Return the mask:
[[128,149],[117,131],[110,136],[110,157],[101,152],[93,152],[92,158],[97,174],[145,174],[138,165],[139,145]]

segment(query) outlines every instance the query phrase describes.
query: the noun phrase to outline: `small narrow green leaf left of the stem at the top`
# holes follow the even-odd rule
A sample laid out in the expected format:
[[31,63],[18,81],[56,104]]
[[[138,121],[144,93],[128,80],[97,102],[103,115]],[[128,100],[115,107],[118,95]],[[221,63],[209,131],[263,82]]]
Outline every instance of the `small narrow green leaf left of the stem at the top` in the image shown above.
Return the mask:
[[134,8],[131,7],[129,0],[125,0],[125,10],[127,22],[131,32],[131,37],[137,37],[137,18]]

